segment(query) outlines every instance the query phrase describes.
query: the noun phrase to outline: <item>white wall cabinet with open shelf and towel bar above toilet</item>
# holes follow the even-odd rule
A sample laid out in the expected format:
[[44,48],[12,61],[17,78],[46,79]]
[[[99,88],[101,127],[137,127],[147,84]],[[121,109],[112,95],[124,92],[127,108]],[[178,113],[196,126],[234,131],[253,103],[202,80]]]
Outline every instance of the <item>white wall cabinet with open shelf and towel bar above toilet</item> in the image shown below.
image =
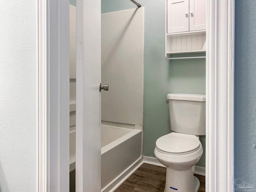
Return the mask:
[[166,59],[177,59],[171,57],[174,54],[205,53],[205,47],[206,0],[166,0]]

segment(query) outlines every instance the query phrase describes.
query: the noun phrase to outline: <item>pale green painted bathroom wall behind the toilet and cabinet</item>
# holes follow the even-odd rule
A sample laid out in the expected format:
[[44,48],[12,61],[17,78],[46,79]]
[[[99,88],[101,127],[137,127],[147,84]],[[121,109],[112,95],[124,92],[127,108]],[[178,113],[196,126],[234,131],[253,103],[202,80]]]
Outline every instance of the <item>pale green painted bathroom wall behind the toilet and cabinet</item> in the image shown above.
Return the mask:
[[[138,2],[145,8],[144,155],[154,157],[156,140],[170,133],[167,94],[205,94],[205,60],[166,61],[165,1]],[[130,0],[102,0],[102,13],[130,8]],[[200,140],[205,148],[205,136]],[[205,153],[197,165],[205,167]]]

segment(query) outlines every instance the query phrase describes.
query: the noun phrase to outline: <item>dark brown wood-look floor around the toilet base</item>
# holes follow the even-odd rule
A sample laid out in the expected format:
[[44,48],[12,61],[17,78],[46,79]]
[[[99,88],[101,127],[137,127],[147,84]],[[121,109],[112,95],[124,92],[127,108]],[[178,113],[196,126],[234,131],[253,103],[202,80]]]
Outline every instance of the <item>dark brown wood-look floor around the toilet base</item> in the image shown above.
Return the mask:
[[[166,168],[142,164],[115,192],[163,192]],[[205,192],[205,176],[196,175],[200,181],[198,192]]]

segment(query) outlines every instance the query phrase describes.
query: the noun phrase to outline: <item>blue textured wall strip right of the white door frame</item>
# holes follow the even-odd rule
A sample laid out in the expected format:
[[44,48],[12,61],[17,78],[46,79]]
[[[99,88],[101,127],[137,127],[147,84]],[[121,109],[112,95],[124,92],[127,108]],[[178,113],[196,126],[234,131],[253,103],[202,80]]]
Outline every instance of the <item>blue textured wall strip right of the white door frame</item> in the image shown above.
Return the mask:
[[[235,1],[235,179],[256,189],[256,1]],[[241,182],[241,180],[239,181]],[[235,186],[236,187],[236,186]],[[237,190],[239,191],[239,190]]]

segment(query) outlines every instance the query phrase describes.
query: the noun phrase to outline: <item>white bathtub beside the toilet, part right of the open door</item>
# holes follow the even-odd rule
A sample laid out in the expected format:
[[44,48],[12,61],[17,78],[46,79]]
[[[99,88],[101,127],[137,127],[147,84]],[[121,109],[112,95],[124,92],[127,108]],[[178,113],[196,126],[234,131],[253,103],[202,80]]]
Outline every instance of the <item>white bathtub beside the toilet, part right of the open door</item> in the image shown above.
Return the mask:
[[108,192],[142,160],[142,130],[102,124],[101,138],[101,191]]

